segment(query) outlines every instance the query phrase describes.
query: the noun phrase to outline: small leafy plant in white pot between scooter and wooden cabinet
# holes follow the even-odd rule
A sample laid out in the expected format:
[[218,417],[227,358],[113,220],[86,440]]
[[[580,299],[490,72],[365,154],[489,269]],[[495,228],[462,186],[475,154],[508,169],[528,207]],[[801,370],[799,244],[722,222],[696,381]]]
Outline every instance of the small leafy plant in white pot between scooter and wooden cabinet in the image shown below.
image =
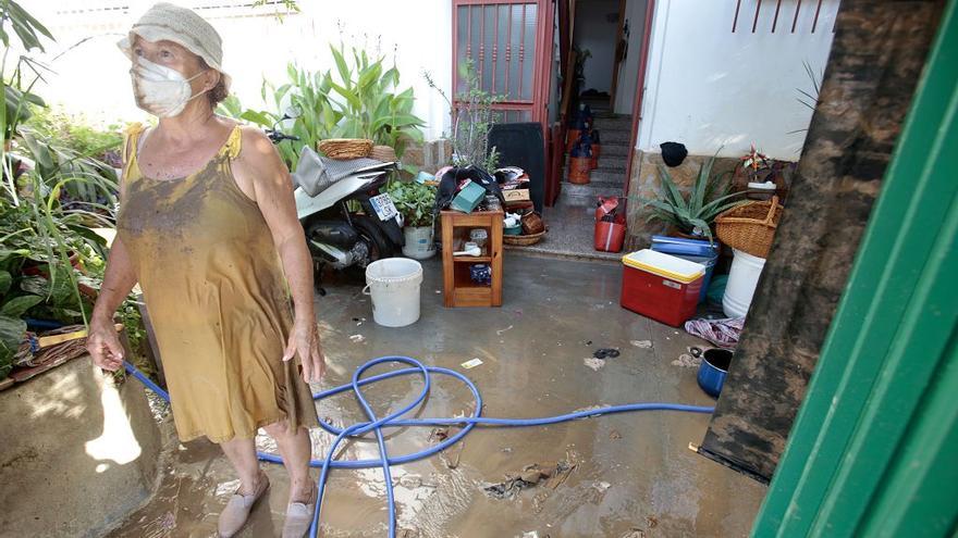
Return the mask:
[[435,254],[433,240],[433,205],[435,188],[418,182],[393,180],[388,192],[403,215],[403,234],[406,245],[403,254],[416,260],[426,260]]

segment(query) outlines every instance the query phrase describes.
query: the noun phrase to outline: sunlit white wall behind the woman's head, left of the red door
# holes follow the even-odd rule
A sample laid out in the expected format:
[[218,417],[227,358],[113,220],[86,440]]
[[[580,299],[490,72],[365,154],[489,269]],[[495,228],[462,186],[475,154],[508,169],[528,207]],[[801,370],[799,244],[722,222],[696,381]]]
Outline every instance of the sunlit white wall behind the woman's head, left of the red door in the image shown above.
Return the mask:
[[[49,84],[38,88],[48,101],[62,103],[71,113],[91,120],[142,121],[148,117],[133,101],[130,62],[115,47],[132,23],[152,0],[89,0],[81,8],[61,2],[22,0],[54,35],[48,47],[52,59],[77,41],[89,38],[57,60]],[[426,121],[427,138],[449,129],[449,108],[422,78],[429,70],[449,93],[452,85],[452,2],[449,0],[351,0],[346,2],[300,1],[302,13],[286,15],[280,23],[271,8],[233,8],[228,0],[179,0],[185,7],[228,5],[199,12],[223,38],[223,67],[233,77],[233,92],[247,107],[259,108],[260,84],[266,76],[275,85],[286,80],[286,63],[295,61],[310,70],[334,65],[329,42],[341,40],[369,45],[381,38],[388,57],[395,51],[402,87],[413,86],[417,98],[414,112]],[[243,2],[246,3],[246,2]],[[415,3],[415,9],[413,4]],[[109,9],[118,4],[119,9]],[[125,7],[128,5],[128,9]],[[105,9],[108,8],[108,9]]]

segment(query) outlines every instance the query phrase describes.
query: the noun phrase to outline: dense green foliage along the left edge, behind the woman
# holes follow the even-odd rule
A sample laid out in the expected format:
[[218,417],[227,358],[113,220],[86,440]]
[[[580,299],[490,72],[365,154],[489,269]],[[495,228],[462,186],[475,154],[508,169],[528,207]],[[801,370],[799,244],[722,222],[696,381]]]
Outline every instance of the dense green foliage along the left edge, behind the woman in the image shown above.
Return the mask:
[[[0,0],[0,70],[11,50],[8,24],[24,50],[42,50],[40,36],[52,39],[16,2]],[[41,68],[21,57],[12,73],[0,73],[0,379],[23,341],[24,317],[86,323],[93,303],[81,285],[99,287],[106,248],[90,227],[113,226],[116,174],[93,157],[114,151],[121,138],[38,110],[44,101],[30,89]]]

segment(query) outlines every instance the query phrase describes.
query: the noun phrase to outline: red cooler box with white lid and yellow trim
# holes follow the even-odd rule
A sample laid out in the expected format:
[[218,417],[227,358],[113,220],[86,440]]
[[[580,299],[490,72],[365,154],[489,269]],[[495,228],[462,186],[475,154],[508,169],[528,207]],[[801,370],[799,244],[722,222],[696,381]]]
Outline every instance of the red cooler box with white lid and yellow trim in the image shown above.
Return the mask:
[[623,308],[678,327],[696,313],[705,266],[653,250],[622,258]]

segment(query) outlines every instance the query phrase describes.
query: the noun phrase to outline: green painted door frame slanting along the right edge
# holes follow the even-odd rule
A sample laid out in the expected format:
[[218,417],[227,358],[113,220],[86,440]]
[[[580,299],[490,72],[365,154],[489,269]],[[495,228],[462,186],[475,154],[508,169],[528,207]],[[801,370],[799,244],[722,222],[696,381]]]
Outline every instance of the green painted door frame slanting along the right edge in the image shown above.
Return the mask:
[[956,3],[753,537],[958,531]]

